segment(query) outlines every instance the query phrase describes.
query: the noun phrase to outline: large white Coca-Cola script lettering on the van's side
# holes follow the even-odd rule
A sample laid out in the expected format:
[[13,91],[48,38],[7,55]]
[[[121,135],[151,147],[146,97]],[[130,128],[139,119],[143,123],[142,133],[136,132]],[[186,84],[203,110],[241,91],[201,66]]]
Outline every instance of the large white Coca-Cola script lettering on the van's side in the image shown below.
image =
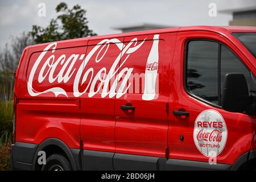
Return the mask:
[[[144,39],[145,40],[145,39]],[[104,39],[101,42],[99,42],[85,57],[85,55],[71,55],[67,57],[65,54],[59,56],[57,59],[55,58],[54,52],[55,49],[57,48],[57,43],[51,43],[49,44],[42,53],[38,56],[36,59],[34,65],[32,66],[32,69],[30,71],[30,75],[28,77],[28,82],[27,82],[27,90],[30,96],[39,96],[40,94],[43,93],[48,93],[52,92],[55,94],[55,97],[59,96],[60,94],[63,94],[64,96],[68,97],[66,90],[64,88],[60,87],[52,87],[49,89],[44,90],[43,92],[38,92],[33,88],[33,80],[35,79],[35,73],[39,71],[39,76],[38,76],[38,82],[41,83],[43,81],[48,81],[49,85],[51,85],[53,82],[57,81],[58,83],[66,83],[69,81],[69,79],[75,75],[75,80],[73,82],[73,95],[75,97],[81,96],[81,94],[84,94],[86,91],[89,90],[88,97],[93,97],[96,93],[98,93],[99,89],[95,90],[95,88],[103,88],[101,92],[101,97],[104,98],[106,96],[109,96],[110,98],[116,96],[117,98],[121,97],[123,94],[127,92],[127,89],[129,88],[128,86],[120,86],[119,89],[117,89],[117,85],[120,82],[120,78],[122,75],[125,75],[125,79],[122,80],[122,82],[125,84],[127,82],[127,79],[129,78],[130,74],[133,72],[134,68],[127,68],[124,67],[122,68],[122,65],[126,62],[128,57],[130,56],[131,53],[134,53],[139,49],[143,43],[142,42],[137,42],[137,38],[134,38],[131,40],[130,43],[128,44],[123,44],[120,42],[118,39]],[[100,64],[100,61],[104,58],[104,55],[109,49],[110,43],[114,43],[115,46],[120,50],[119,55],[115,58],[112,67],[107,71],[105,67],[102,67],[100,71],[97,73],[94,73],[94,69],[87,68],[86,65],[90,61],[91,57],[98,51],[96,55],[95,64]],[[47,57],[46,53],[51,52],[52,54]],[[85,57],[85,58],[84,58]],[[120,63],[121,58],[123,57],[122,63]],[[39,64],[41,61],[46,59],[44,62],[42,68],[38,68]],[[76,71],[76,68],[73,68],[75,65],[76,61],[78,59],[82,59],[82,63],[78,70]],[[119,65],[120,64],[120,65]],[[55,73],[55,70],[57,67],[61,67],[60,72],[57,74],[57,76],[53,77],[53,73]],[[47,68],[47,69],[46,69]],[[85,70],[86,68],[86,70]],[[121,70],[119,70],[122,68]],[[65,72],[65,74],[64,74]],[[84,74],[83,74],[84,73]],[[116,74],[119,74],[120,76],[114,77]],[[81,76],[83,77],[81,78]],[[114,83],[111,85],[110,89],[109,83],[110,80],[114,77]],[[85,81],[89,81],[88,86],[80,92],[80,79],[81,79],[81,84],[84,84]],[[100,85],[97,85],[96,87],[96,82],[100,81]],[[121,83],[122,85],[122,83]],[[116,90],[117,89],[117,90]]]

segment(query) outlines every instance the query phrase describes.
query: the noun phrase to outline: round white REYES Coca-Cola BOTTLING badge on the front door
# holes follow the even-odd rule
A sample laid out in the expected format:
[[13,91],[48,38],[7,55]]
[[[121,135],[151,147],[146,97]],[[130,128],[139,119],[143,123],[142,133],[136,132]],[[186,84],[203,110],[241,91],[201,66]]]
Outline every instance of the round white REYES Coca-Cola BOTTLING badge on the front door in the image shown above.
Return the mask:
[[196,118],[193,139],[197,149],[205,156],[219,155],[225,147],[228,129],[224,118],[216,110],[204,110]]

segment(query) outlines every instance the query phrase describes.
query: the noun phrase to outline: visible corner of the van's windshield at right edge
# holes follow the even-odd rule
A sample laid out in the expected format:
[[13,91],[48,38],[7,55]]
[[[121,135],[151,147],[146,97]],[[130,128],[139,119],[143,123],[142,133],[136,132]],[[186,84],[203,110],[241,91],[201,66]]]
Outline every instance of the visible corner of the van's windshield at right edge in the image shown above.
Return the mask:
[[255,33],[232,33],[256,58],[256,32]]

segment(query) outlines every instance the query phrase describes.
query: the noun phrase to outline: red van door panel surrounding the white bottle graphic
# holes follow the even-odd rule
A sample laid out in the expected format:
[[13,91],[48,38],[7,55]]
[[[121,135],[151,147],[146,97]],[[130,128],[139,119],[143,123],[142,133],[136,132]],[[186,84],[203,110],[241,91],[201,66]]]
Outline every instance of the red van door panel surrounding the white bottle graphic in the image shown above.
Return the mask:
[[[176,41],[176,32],[160,34],[159,36],[159,61],[158,71],[162,74],[158,77],[159,95],[158,98],[148,101],[142,100],[143,75],[147,62],[148,52],[152,47],[153,35],[130,36],[125,38],[125,43],[137,38],[138,44],[145,42],[136,53],[121,59],[123,67],[133,67],[133,74],[141,82],[130,86],[130,92],[115,101],[115,152],[123,154],[134,154],[144,156],[165,157],[167,149],[168,118],[166,114],[166,103],[170,93],[168,74],[170,73],[171,62]],[[134,66],[135,65],[135,66]],[[135,91],[136,89],[137,92]],[[129,91],[129,90],[128,90]],[[120,109],[121,105],[131,105],[135,111],[129,112]],[[134,125],[136,123],[136,125]]]

